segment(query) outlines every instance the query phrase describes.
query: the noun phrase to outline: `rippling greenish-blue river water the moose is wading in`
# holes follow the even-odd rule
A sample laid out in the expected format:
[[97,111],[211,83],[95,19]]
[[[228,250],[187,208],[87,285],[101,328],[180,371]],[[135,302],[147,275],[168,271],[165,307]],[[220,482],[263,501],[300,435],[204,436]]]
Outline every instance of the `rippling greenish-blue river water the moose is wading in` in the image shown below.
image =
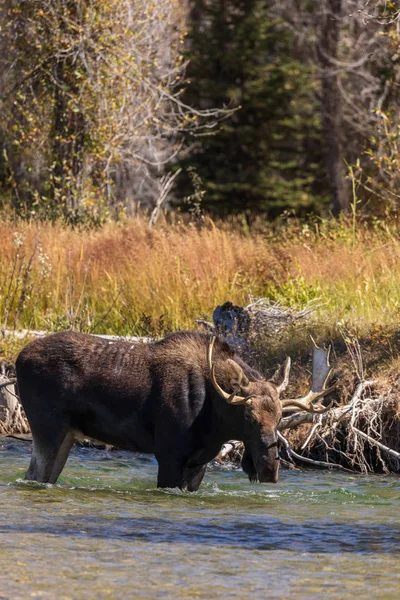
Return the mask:
[[0,599],[400,598],[400,479],[211,467],[157,490],[152,457],[74,449],[60,482],[20,480],[0,439]]

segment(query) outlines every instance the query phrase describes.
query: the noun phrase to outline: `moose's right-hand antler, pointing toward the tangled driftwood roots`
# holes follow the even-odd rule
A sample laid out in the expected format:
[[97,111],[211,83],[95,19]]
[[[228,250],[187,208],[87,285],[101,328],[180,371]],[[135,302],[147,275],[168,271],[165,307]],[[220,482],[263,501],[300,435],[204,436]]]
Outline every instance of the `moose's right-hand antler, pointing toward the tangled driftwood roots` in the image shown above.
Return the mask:
[[329,406],[322,408],[313,404],[316,400],[329,394],[336,387],[336,385],[333,385],[325,389],[326,382],[332,370],[332,367],[329,364],[331,346],[329,346],[328,349],[319,348],[313,338],[311,339],[314,344],[311,390],[303,398],[282,400],[283,412],[289,412],[294,410],[294,408],[301,408],[307,412],[321,414],[327,412],[331,408],[332,403],[330,403]]

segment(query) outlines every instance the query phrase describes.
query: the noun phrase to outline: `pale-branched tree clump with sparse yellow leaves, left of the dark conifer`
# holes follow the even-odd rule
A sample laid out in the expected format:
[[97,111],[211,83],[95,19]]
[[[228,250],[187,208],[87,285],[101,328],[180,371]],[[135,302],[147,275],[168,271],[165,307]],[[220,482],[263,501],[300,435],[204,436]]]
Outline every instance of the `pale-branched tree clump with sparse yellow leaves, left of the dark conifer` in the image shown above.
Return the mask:
[[19,216],[101,224],[144,155],[175,152],[182,15],[178,0],[3,3],[0,186]]

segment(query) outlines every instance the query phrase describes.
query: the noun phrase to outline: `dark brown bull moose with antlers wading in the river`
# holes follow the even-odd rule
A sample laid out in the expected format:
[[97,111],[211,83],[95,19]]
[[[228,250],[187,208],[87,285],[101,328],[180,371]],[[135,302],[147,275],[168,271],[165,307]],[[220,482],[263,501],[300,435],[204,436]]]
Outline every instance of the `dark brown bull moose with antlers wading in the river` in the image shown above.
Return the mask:
[[276,482],[282,411],[325,412],[313,402],[330,391],[325,365],[305,398],[281,401],[289,370],[288,358],[267,381],[222,338],[199,332],[134,344],[73,331],[39,338],[16,362],[33,436],[26,479],[55,483],[72,444],[85,437],[153,453],[158,487],[188,491],[199,488],[222,444],[238,439],[250,481]]

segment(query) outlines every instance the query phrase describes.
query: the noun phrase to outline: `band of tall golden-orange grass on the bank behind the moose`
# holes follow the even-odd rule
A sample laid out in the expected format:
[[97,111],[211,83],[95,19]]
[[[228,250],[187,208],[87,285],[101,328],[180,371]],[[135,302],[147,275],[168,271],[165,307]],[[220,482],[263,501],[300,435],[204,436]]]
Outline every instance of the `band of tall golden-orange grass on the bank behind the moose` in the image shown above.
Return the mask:
[[352,220],[258,224],[141,218],[99,230],[0,223],[0,327],[120,335],[193,328],[227,300],[319,298],[331,323],[392,325],[400,311],[396,226]]

